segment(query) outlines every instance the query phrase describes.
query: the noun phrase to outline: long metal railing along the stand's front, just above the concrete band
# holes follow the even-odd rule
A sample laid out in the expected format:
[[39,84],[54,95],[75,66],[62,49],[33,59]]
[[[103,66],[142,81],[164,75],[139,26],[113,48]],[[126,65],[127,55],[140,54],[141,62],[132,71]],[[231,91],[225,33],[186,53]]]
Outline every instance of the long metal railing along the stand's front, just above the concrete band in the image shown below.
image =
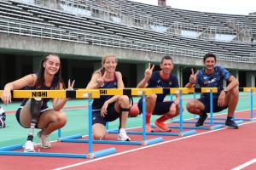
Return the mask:
[[[84,32],[67,31],[50,26],[35,26],[32,24],[25,24],[9,20],[0,20],[0,32],[27,37],[47,38],[58,41],[89,43],[91,45],[99,45],[111,48],[128,48],[132,50],[147,51],[158,54],[172,54],[189,58],[202,58],[202,56],[207,53],[206,51],[199,49],[195,50],[193,48],[181,48],[175,45],[167,46],[163,44],[157,44],[157,42],[141,42],[139,39],[131,41],[125,38],[114,38]],[[217,56],[218,59],[224,61],[256,63],[255,59],[250,57],[224,54],[217,54]],[[151,57],[148,58],[148,60],[159,61],[157,57]]]

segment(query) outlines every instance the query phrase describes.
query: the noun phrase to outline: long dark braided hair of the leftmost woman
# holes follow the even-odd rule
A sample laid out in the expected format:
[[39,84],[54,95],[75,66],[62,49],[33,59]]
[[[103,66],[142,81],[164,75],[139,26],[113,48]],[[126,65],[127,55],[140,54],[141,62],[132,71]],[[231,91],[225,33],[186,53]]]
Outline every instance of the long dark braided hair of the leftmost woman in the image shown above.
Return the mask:
[[[45,54],[44,55],[44,58],[40,62],[40,68],[38,71],[38,80],[36,82],[37,88],[44,87],[44,82],[45,82],[45,80],[44,80],[44,70],[45,70],[44,62],[47,61],[47,59],[49,59],[49,55],[54,55],[60,59],[60,57],[57,54]],[[65,83],[63,82],[62,77],[61,77],[61,63],[60,63],[59,71],[56,72],[56,74],[55,74],[55,78],[57,79],[56,88],[57,89],[60,88],[59,87],[60,82],[63,84],[63,88],[65,88]]]

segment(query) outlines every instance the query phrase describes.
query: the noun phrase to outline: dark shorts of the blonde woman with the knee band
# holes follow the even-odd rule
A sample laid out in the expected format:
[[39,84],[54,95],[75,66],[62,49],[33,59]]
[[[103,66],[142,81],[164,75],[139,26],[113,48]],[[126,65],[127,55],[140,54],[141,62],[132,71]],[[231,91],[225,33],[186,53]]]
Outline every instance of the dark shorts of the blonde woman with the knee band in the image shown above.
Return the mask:
[[115,104],[115,102],[108,105],[108,108],[107,108],[108,113],[107,113],[107,115],[105,115],[105,117],[101,116],[101,109],[93,110],[92,111],[92,124],[101,123],[102,125],[106,126],[106,122],[113,122],[117,118],[119,118],[119,112],[115,111],[114,104]]

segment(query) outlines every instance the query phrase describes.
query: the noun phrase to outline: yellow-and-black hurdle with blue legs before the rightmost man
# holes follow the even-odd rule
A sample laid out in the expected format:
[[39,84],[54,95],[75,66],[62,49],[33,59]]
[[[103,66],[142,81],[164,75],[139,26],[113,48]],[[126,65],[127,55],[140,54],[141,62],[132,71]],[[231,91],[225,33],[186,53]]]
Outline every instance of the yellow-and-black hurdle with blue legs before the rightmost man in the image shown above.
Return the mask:
[[[189,88],[189,93],[209,93],[210,94],[210,122],[204,122],[209,124],[209,127],[183,127],[185,129],[204,129],[204,130],[215,130],[224,127],[224,122],[213,122],[213,105],[212,105],[212,94],[218,93],[218,88]],[[180,120],[174,120],[173,122],[180,122]],[[195,123],[195,121],[183,121],[184,123]],[[237,124],[241,124],[242,121],[237,121]],[[214,125],[213,125],[214,124]],[[217,124],[217,125],[216,125]],[[177,126],[170,126],[171,128],[177,128]]]

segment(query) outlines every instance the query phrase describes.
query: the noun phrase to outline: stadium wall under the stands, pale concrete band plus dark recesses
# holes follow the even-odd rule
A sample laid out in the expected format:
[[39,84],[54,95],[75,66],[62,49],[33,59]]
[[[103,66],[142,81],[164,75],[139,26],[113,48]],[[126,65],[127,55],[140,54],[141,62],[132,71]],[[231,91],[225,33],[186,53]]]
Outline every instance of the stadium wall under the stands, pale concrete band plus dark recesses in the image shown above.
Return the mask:
[[[143,72],[147,67],[148,62],[159,65],[161,56],[164,55],[124,48],[108,48],[77,42],[22,37],[3,33],[0,33],[0,39],[1,60],[3,61],[2,58],[8,54],[15,55],[11,60],[9,60],[8,57],[5,57],[7,58],[3,62],[5,66],[2,64],[2,67],[6,68],[6,65],[13,65],[14,63],[18,65],[23,63],[22,65],[29,68],[24,71],[24,69],[20,68],[22,66],[17,66],[13,72],[6,72],[2,68],[2,88],[4,83],[13,81],[17,77],[24,76],[24,73],[27,73],[26,71],[37,71],[38,60],[46,53],[55,53],[61,56],[64,78],[67,80],[70,77],[73,79],[75,77],[77,84],[76,88],[84,88],[85,84],[89,82],[93,71],[101,66],[100,60],[102,59],[103,54],[116,54],[119,59],[118,70],[123,73],[126,87],[136,87],[137,82],[143,77]],[[190,74],[190,68],[201,68],[203,65],[202,59],[199,58],[184,57],[183,55],[172,55],[172,58],[176,65],[176,70],[174,72],[177,74],[182,86],[188,82],[187,78],[184,78],[183,76]],[[23,62],[20,62],[20,60]],[[31,64],[26,60],[31,60]],[[228,68],[230,71],[249,71],[250,73],[246,73],[246,85],[247,87],[255,87],[255,64],[220,60],[218,60],[218,64],[224,65],[224,67]],[[83,76],[79,76],[79,73],[81,72]],[[8,75],[3,76],[3,74]],[[9,76],[9,74],[14,74],[15,76]]]

